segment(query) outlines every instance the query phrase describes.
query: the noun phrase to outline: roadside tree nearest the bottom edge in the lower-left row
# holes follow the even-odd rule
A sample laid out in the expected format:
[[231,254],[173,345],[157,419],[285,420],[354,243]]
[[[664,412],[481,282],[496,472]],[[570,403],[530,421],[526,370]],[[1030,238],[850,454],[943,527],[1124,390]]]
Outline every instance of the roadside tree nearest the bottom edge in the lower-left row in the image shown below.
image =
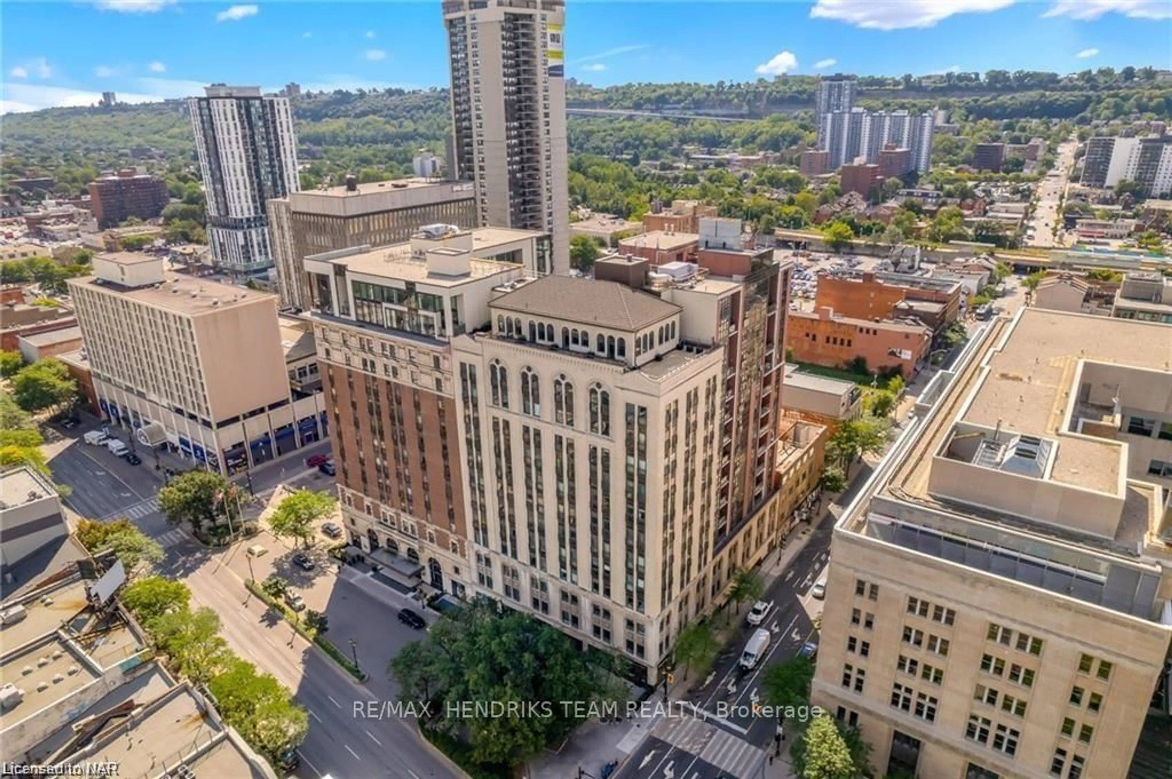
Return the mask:
[[309,726],[306,710],[293,702],[277,677],[261,674],[252,663],[233,655],[207,689],[224,719],[268,757],[305,739]]

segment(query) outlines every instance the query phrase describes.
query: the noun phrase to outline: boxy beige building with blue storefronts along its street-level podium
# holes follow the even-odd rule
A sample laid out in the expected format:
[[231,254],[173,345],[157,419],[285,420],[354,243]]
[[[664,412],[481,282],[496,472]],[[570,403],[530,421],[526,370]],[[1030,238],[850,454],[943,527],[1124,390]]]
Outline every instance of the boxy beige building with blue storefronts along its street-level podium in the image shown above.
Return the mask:
[[95,257],[69,289],[110,423],[224,473],[326,435],[320,394],[289,387],[274,295],[170,275],[134,253]]

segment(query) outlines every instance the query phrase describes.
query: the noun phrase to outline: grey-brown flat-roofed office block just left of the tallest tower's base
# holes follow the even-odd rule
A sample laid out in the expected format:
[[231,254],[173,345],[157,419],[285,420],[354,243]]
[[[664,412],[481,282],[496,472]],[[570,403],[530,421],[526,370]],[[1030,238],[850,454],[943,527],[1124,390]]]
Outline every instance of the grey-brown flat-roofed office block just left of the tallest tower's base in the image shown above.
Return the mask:
[[406,178],[291,192],[268,201],[277,282],[282,308],[308,308],[301,262],[312,254],[355,246],[390,246],[408,240],[421,225],[476,223],[470,182]]

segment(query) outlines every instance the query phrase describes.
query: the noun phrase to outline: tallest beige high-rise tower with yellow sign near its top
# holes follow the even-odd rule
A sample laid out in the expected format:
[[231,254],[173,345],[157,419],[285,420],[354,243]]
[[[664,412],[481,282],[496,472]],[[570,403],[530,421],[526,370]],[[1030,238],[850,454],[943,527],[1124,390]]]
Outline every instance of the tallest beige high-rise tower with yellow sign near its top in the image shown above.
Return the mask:
[[553,235],[539,273],[570,271],[564,0],[447,0],[457,178],[481,226]]

